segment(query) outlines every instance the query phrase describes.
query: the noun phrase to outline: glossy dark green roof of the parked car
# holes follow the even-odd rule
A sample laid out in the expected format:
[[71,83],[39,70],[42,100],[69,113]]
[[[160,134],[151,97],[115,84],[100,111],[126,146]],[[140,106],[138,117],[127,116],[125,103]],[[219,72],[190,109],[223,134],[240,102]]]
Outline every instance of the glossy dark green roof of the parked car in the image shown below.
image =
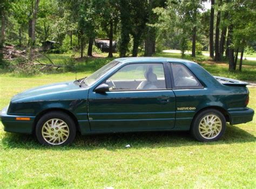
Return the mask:
[[149,63],[149,62],[179,62],[179,63],[193,63],[190,60],[184,60],[179,58],[165,58],[165,57],[128,57],[114,59],[121,63]]

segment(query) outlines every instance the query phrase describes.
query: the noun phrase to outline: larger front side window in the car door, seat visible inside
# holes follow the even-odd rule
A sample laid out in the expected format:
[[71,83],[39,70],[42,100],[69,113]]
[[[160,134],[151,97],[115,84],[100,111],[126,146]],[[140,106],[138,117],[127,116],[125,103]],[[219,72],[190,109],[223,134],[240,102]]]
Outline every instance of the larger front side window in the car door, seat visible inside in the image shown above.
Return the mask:
[[110,91],[166,89],[164,67],[161,63],[129,64],[106,80]]

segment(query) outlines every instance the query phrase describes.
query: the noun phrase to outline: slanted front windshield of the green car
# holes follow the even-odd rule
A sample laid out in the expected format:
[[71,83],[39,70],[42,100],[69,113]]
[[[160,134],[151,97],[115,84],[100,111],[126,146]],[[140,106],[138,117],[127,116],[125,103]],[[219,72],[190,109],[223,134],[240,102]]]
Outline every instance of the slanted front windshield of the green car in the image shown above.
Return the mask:
[[116,60],[111,61],[109,64],[104,65],[102,68],[100,68],[99,70],[97,70],[96,72],[92,73],[91,76],[87,77],[84,80],[85,85],[87,86],[91,86],[93,85],[95,82],[97,82],[97,80],[99,80],[100,78],[102,78],[102,76],[108,72],[109,70],[111,70],[112,68],[114,68],[114,66],[116,66],[117,64],[119,64],[119,62],[117,62]]

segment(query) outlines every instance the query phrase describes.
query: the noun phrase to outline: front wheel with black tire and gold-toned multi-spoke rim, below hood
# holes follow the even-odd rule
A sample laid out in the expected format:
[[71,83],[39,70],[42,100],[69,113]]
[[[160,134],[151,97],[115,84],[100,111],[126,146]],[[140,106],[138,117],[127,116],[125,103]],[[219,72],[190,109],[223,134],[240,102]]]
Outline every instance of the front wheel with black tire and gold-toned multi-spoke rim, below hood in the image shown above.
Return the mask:
[[36,138],[43,145],[67,145],[72,143],[75,137],[76,125],[64,112],[48,112],[37,122]]

